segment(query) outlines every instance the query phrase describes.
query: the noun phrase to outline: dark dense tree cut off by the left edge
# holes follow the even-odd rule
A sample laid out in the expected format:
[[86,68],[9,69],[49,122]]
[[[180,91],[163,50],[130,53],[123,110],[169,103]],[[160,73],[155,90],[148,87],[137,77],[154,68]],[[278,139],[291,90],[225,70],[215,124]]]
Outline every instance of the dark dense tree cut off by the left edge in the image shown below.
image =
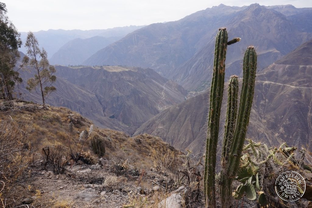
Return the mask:
[[19,73],[14,71],[21,45],[20,33],[9,21],[5,3],[0,2],[0,99],[12,100],[15,82],[22,82]]

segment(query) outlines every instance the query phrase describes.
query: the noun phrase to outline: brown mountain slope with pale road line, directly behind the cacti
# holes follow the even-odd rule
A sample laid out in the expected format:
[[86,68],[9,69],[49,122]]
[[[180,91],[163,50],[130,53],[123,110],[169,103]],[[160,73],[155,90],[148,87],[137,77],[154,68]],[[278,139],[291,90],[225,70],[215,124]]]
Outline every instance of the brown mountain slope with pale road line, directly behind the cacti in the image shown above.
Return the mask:
[[[311,149],[311,72],[312,40],[258,70],[247,138],[272,146],[287,142],[290,146]],[[208,99],[209,91],[172,106],[146,121],[134,135],[157,135],[176,148],[202,153],[206,142]],[[227,96],[223,99],[220,132],[224,129],[226,100]],[[222,140],[221,133],[219,141]]]

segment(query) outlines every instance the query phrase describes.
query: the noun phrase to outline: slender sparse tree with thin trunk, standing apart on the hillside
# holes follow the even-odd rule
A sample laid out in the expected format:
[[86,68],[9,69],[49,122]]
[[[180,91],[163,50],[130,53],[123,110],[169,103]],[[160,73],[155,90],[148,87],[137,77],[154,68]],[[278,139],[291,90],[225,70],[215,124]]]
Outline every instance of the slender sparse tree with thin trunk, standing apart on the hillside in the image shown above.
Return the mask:
[[49,64],[46,51],[44,48],[39,48],[37,38],[32,32],[28,32],[25,47],[27,48],[27,55],[29,58],[26,62],[28,66],[33,68],[36,72],[34,77],[27,80],[28,86],[26,89],[31,92],[39,87],[43,108],[45,108],[45,98],[47,98],[51,92],[56,91],[56,88],[52,86],[52,83],[56,81],[56,76],[53,75],[56,70],[54,66]]

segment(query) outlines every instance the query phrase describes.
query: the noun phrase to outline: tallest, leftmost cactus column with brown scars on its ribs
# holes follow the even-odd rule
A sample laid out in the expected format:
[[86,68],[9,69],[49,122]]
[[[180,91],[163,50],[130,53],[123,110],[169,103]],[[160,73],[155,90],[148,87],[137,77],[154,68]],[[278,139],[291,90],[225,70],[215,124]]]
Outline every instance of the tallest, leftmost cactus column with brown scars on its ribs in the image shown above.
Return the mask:
[[213,75],[210,89],[210,105],[206,143],[204,191],[208,207],[216,206],[215,196],[215,166],[217,141],[219,134],[220,110],[224,88],[225,57],[227,52],[227,31],[220,28],[216,37]]

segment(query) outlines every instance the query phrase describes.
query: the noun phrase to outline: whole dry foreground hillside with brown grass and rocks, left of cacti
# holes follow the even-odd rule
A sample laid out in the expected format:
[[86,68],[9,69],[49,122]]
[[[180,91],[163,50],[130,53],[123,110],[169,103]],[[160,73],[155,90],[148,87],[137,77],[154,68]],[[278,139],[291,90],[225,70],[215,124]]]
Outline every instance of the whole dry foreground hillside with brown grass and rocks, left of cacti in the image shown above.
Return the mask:
[[[8,108],[3,108],[4,102]],[[42,109],[27,102],[0,103],[4,207],[115,208],[132,204],[134,197],[143,194],[144,204],[157,207],[162,197],[153,196],[155,183],[175,183],[170,170],[163,169],[162,164],[162,169],[156,167],[166,155],[178,167],[183,153],[158,137],[130,137],[98,128],[65,107]],[[83,131],[87,136],[79,136]],[[93,138],[105,146],[101,158],[94,154]],[[74,155],[80,158],[75,160]],[[5,156],[7,160],[3,160]],[[56,171],[58,167],[63,171]]]

